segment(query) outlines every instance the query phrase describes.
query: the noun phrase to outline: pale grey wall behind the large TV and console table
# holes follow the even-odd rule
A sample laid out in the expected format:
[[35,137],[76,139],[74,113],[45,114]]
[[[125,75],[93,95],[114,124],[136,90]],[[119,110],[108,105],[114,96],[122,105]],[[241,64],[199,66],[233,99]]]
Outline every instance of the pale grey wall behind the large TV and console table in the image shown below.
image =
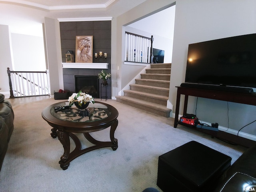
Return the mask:
[[[177,0],[169,100],[176,106],[175,86],[185,80],[188,44],[256,33],[254,0]],[[188,113],[195,114],[195,98],[189,98]],[[180,106],[180,114],[183,106]],[[175,112],[175,111],[173,111]],[[198,99],[197,116],[205,122],[239,130],[256,119],[256,106]],[[256,135],[256,124],[242,132]]]

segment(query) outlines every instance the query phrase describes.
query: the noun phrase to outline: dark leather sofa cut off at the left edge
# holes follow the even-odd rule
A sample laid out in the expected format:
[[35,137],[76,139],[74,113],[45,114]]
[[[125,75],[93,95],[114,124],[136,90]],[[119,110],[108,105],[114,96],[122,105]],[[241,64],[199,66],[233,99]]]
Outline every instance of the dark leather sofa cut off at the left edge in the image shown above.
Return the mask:
[[0,94],[0,170],[14,129],[14,112],[10,102]]

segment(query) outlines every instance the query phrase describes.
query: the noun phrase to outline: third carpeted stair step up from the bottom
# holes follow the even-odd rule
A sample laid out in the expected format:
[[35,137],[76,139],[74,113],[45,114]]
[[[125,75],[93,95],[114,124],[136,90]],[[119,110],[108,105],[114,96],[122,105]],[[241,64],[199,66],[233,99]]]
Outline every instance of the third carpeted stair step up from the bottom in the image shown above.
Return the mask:
[[152,94],[168,97],[170,89],[162,88],[162,87],[147,86],[147,85],[130,84],[130,90],[140,91],[145,93],[152,93]]

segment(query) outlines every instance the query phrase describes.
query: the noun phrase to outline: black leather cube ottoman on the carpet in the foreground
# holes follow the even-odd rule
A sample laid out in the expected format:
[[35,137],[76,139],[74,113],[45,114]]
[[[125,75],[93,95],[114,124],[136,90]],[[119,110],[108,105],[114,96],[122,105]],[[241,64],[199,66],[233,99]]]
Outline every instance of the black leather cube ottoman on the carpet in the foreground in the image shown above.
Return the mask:
[[164,192],[206,192],[230,165],[231,157],[191,141],[159,156],[157,185]]

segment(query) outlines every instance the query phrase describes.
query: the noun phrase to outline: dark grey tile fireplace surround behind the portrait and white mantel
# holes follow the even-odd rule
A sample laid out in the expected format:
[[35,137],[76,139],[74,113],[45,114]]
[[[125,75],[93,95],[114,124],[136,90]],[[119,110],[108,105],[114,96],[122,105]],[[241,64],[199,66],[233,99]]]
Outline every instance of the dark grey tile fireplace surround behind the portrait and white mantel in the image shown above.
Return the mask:
[[[62,62],[66,62],[65,53],[67,50],[75,52],[76,36],[93,36],[93,53],[94,52],[106,52],[108,58],[93,59],[93,62],[108,63],[108,69],[104,69],[106,72],[111,72],[111,21],[88,21],[88,22],[60,22],[60,38],[61,38],[61,51]],[[78,68],[63,68],[63,81],[64,89],[70,90],[71,93],[77,92],[75,88],[75,76],[79,77],[91,77],[97,76],[102,69],[78,69]],[[85,80],[85,79],[84,79]],[[94,98],[99,98],[101,95],[105,96],[105,88],[100,93],[100,86],[102,80],[96,79],[98,83],[98,94],[94,95]],[[94,86],[95,87],[95,86]],[[111,78],[108,80],[107,87],[108,99],[111,99]]]

